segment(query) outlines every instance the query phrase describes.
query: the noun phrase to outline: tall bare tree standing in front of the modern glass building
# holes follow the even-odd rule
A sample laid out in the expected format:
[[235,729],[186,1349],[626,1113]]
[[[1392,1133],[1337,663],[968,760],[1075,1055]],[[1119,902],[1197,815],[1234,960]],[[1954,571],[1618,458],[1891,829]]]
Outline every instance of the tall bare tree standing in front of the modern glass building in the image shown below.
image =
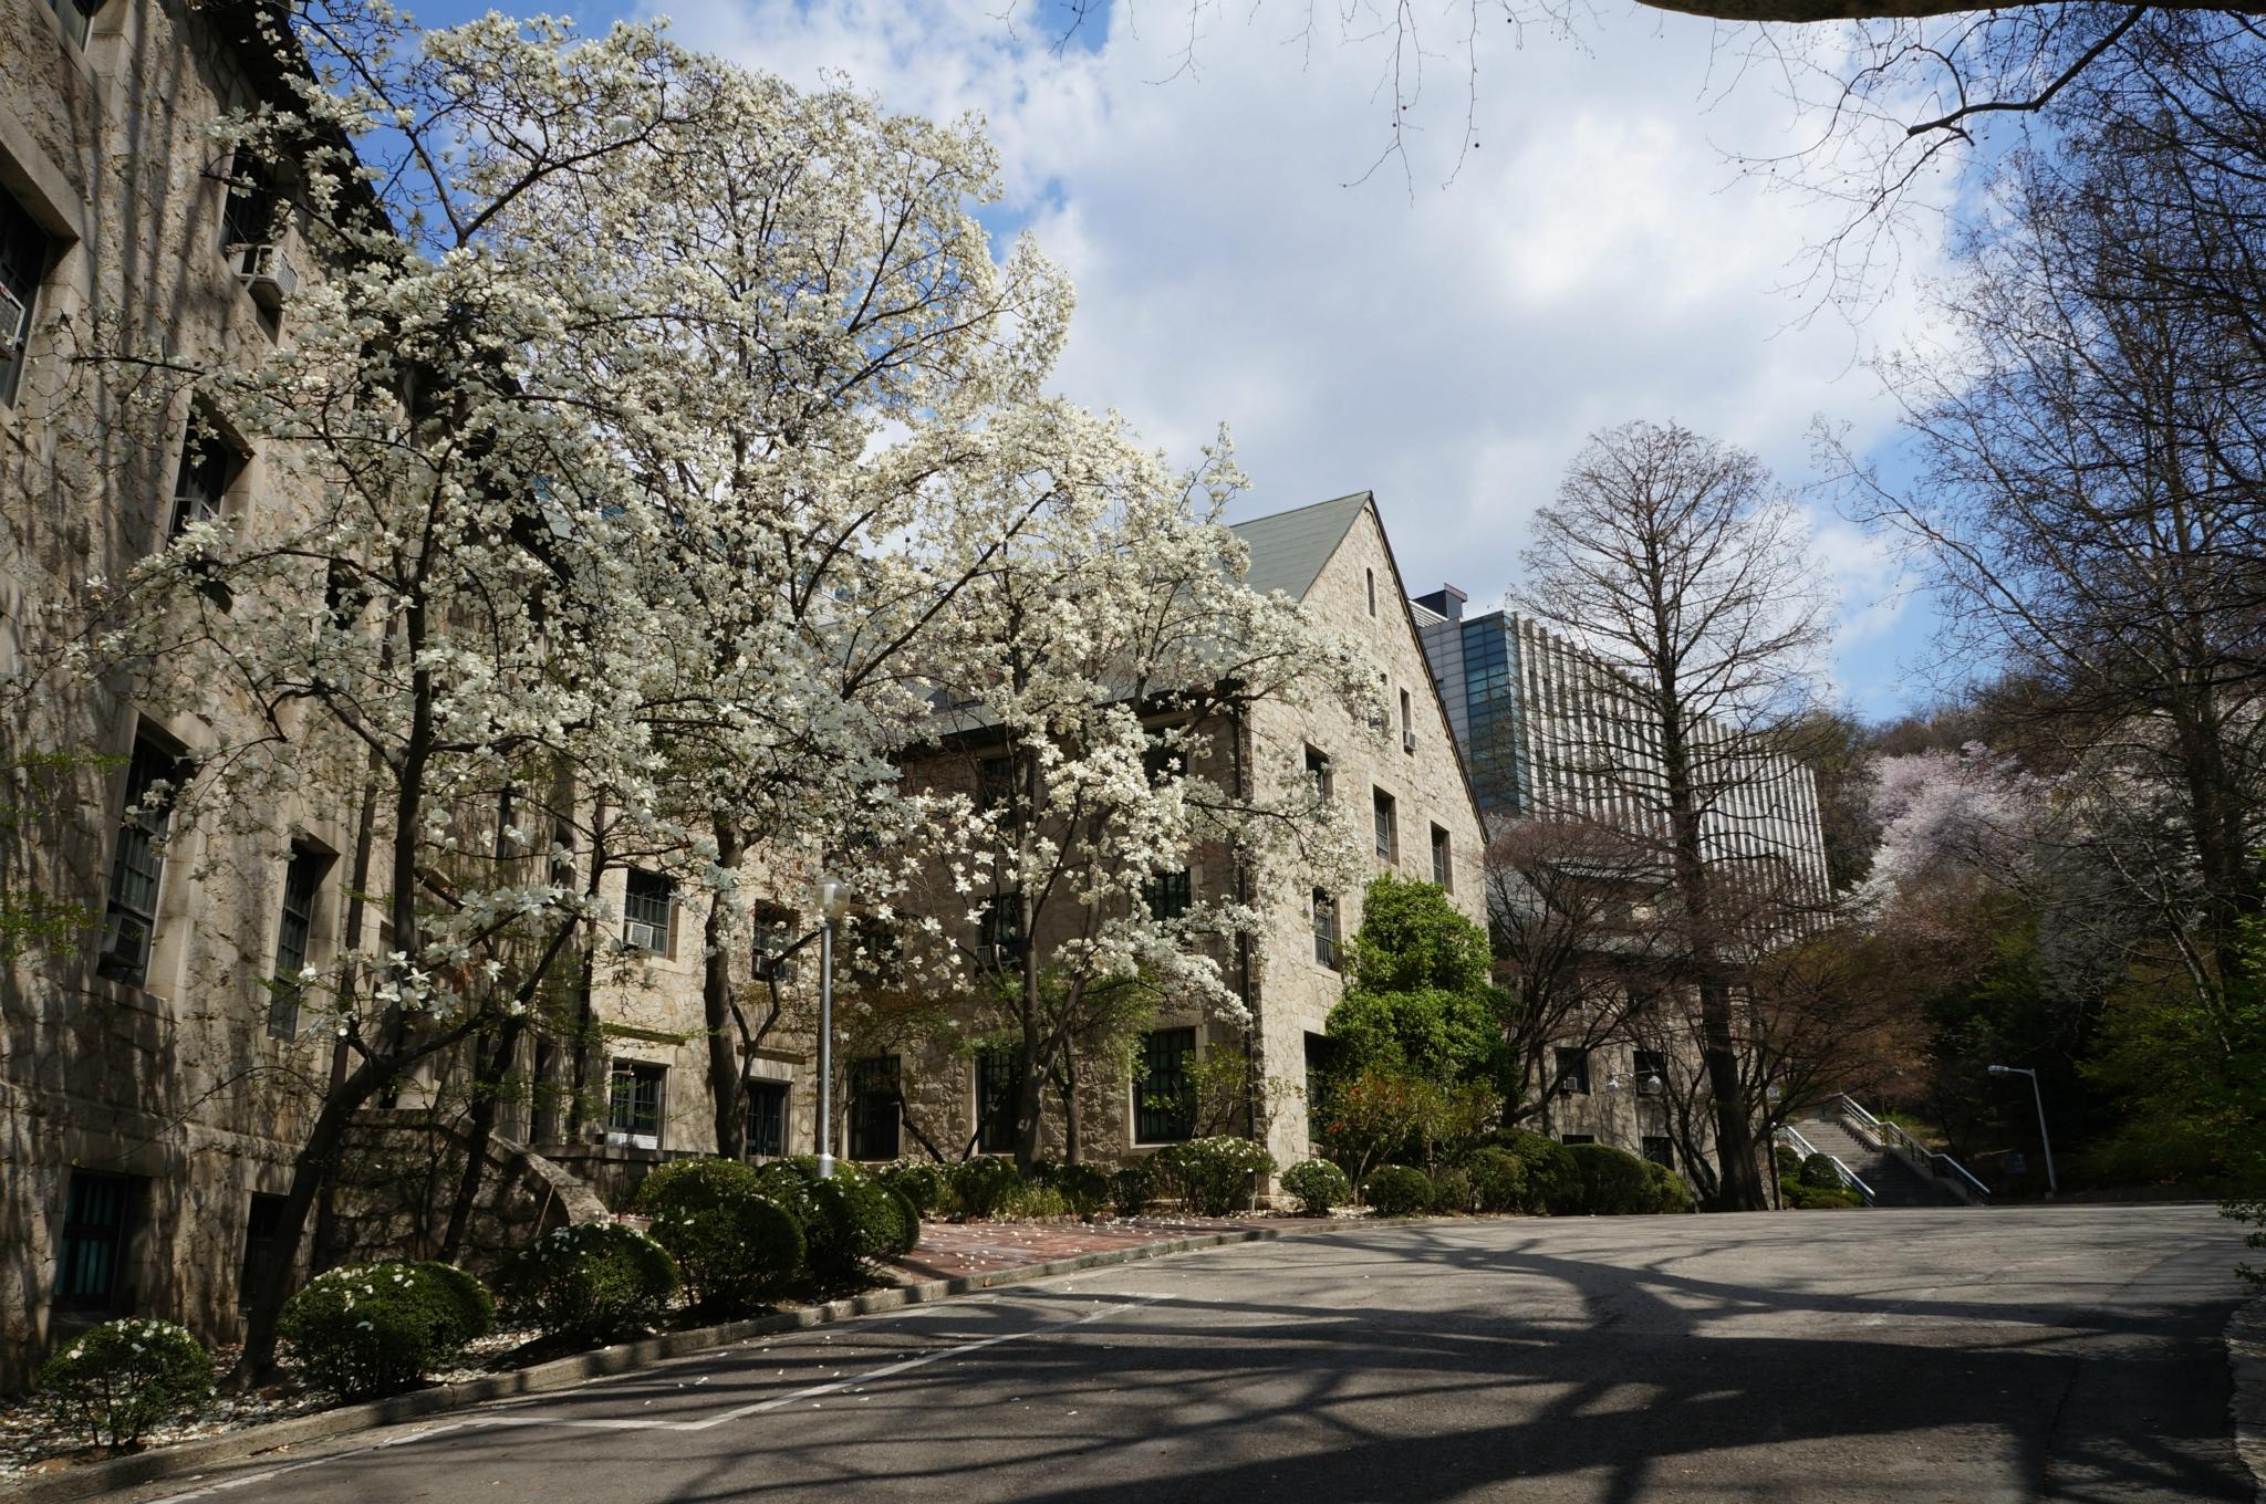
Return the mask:
[[[1758,1210],[1731,990],[1740,958],[1792,933],[1806,788],[1770,743],[1808,698],[1826,612],[1806,528],[1761,462],[1686,428],[1591,437],[1534,516],[1518,600],[1579,641],[1536,736],[1575,809],[1652,843],[1672,976],[1697,990],[1715,1103],[1718,1205]],[[1815,829],[1813,824],[1808,829]],[[1783,838],[1781,838],[1783,834]]]

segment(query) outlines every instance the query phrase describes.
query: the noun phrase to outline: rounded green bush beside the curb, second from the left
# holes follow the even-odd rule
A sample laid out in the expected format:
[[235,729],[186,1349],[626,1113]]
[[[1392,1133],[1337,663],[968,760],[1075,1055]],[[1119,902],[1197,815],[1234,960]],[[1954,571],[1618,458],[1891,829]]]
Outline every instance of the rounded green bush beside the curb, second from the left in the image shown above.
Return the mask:
[[308,1280],[279,1332],[317,1388],[360,1400],[408,1388],[494,1323],[494,1300],[449,1264],[349,1264]]

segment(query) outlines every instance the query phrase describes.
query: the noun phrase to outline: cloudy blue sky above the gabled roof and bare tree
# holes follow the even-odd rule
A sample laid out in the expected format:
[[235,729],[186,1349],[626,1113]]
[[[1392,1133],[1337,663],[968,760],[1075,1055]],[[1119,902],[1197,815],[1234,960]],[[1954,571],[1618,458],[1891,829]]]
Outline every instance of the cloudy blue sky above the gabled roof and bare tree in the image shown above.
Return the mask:
[[[1389,57],[1341,36],[1337,7],[1303,36],[1296,0],[1117,0],[1058,48],[1058,0],[1013,2],[571,14],[666,14],[687,45],[793,84],[841,72],[893,109],[979,111],[1006,172],[990,227],[1036,233],[1079,288],[1063,390],[1181,458],[1226,421],[1253,480],[1242,516],[1373,489],[1414,593],[1500,603],[1527,514],[1584,435],[1625,419],[1754,448],[1792,489],[1820,478],[1824,419],[1894,471],[1897,415],[1865,362],[1926,337],[1915,288],[1937,258],[1908,238],[1860,319],[1790,290],[1840,208],[1733,161],[1806,125],[1783,79],[1743,66],[1749,34],[1611,5],[1573,39],[1482,32],[1475,149],[1462,41],[1428,34],[1407,165],[1364,179]],[[1833,689],[1869,716],[1928,700],[1926,600],[1879,539],[1824,505],[1813,523],[1842,603]]]

